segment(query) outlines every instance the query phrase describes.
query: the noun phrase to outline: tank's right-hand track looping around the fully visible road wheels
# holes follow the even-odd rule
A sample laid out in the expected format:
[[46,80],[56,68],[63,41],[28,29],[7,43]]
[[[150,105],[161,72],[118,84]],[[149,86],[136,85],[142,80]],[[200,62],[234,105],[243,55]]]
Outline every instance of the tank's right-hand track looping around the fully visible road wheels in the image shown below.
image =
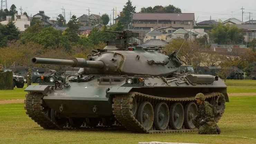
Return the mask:
[[[209,99],[214,96],[224,96],[222,93],[210,93],[205,94],[205,98]],[[194,101],[194,97],[184,97],[184,98],[169,98],[169,97],[158,97],[153,95],[142,94],[139,92],[131,92],[129,94],[124,95],[116,95],[113,98],[113,114],[115,118],[123,124],[128,130],[132,132],[139,132],[139,133],[176,133],[176,132],[194,132],[198,131],[197,129],[181,129],[181,130],[171,130],[167,127],[167,130],[159,131],[155,130],[153,127],[151,130],[146,130],[144,126],[134,117],[133,113],[131,112],[132,109],[132,100],[133,97],[136,99],[136,102],[143,102],[149,101],[152,105],[158,102],[166,102],[167,105],[170,105],[171,102],[187,102],[187,101]],[[222,115],[218,117],[220,119]]]

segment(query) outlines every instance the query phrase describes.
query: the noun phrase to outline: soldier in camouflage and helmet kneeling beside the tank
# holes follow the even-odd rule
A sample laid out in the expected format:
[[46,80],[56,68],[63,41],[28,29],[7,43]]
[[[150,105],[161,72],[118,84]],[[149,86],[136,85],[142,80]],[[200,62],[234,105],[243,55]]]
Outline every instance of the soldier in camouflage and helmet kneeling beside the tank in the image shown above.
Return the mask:
[[192,123],[198,128],[199,134],[220,134],[220,129],[217,123],[214,121],[214,112],[211,104],[205,101],[205,95],[198,93],[196,95],[197,104],[199,109],[196,117],[192,120]]

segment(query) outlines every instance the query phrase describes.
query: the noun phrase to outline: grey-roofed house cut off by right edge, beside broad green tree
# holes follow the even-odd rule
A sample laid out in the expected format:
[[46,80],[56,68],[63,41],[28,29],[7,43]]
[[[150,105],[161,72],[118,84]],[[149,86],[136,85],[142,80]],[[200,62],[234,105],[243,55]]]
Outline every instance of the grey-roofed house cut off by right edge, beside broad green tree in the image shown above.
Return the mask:
[[243,36],[245,42],[256,39],[256,24],[236,24],[237,28],[243,29]]

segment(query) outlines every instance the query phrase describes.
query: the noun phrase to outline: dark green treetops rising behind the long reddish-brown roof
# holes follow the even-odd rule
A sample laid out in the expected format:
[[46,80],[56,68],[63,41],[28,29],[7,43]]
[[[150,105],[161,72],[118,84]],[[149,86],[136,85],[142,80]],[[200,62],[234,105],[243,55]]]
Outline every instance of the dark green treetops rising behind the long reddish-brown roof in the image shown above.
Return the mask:
[[169,6],[154,6],[148,7],[148,8],[141,8],[140,12],[145,12],[145,13],[181,13],[181,9],[174,7],[173,5],[169,4]]

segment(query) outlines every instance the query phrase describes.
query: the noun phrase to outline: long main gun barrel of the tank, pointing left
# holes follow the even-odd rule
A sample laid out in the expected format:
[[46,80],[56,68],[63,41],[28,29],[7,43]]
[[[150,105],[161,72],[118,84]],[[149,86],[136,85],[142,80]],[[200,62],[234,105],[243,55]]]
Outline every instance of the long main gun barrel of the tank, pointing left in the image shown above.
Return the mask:
[[86,61],[83,58],[72,58],[71,60],[32,58],[32,63],[69,65],[69,66],[78,67],[78,68],[84,68],[84,67],[94,68],[94,69],[103,69],[104,68],[104,63],[102,61]]

